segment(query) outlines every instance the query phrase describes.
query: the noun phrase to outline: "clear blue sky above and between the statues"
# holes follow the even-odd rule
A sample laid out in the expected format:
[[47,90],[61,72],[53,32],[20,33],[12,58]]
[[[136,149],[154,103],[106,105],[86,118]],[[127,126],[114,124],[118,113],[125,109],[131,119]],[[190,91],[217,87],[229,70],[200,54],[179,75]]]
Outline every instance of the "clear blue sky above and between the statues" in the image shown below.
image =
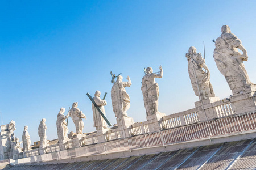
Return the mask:
[[[46,118],[47,139],[57,138],[56,117],[77,101],[87,116],[84,132],[95,131],[86,92],[108,92],[106,116],[116,124],[110,99],[110,71],[130,76],[135,122],[146,121],[141,92],[143,68],[163,67],[159,111],[172,114],[194,108],[187,70],[189,46],[203,54],[216,96],[231,91],[213,59],[221,26],[229,25],[241,39],[255,74],[256,1],[1,1],[0,111],[1,125],[16,122],[15,136],[25,125],[31,141],[39,141],[39,120]],[[69,131],[75,131],[71,118]]]

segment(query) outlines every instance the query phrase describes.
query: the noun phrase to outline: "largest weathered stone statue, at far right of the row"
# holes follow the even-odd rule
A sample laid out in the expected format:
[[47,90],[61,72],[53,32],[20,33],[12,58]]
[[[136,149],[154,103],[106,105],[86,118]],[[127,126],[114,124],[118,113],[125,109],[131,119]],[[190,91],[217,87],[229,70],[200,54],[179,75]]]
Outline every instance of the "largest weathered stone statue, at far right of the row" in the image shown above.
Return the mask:
[[[247,52],[241,40],[231,33],[228,25],[223,25],[221,32],[221,36],[215,42],[213,55],[218,70],[225,76],[232,91],[239,87],[245,90],[245,86],[253,84],[243,64],[243,61],[248,60]],[[240,49],[243,54],[238,52],[237,49]],[[234,93],[237,93],[237,91],[233,91]]]

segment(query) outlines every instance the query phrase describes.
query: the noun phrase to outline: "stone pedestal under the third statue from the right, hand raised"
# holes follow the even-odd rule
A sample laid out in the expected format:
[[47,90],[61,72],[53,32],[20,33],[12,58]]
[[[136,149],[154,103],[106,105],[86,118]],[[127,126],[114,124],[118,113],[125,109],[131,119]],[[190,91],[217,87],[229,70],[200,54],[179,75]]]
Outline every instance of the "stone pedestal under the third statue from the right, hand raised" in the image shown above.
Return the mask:
[[163,116],[166,116],[166,114],[160,112],[147,116],[147,124],[150,133],[161,130],[160,124],[163,120]]

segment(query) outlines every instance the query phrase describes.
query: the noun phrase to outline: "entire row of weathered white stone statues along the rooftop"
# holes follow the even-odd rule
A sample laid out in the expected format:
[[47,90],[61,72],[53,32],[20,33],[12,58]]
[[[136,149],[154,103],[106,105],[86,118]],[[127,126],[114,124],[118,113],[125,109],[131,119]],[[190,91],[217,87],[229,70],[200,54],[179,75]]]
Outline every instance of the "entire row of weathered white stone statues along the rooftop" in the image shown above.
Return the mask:
[[[230,89],[235,95],[237,92],[246,89],[246,86],[250,86],[252,83],[249,80],[243,61],[247,61],[248,56],[245,48],[242,46],[240,39],[238,39],[233,33],[230,32],[228,25],[224,25],[221,28],[221,36],[216,40],[216,48],[214,50],[214,59],[218,70],[225,76],[226,81],[229,84]],[[242,50],[243,54],[238,52],[238,49]],[[185,55],[188,59],[188,73],[191,79],[191,84],[196,96],[199,96],[200,100],[205,100],[210,97],[215,97],[212,84],[210,83],[210,71],[205,65],[205,60],[200,53],[196,53],[195,47],[190,47],[188,53]],[[203,70],[205,69],[205,71]],[[146,109],[147,116],[158,114],[158,98],[159,98],[159,86],[155,82],[155,78],[163,77],[162,66],[159,67],[158,73],[153,73],[151,67],[147,67],[145,75],[142,78],[142,94],[144,100],[144,107]],[[127,94],[125,87],[131,86],[131,79],[127,76],[127,82],[123,82],[121,75],[117,76],[117,81],[113,81],[113,87],[111,89],[111,99],[113,111],[117,120],[123,117],[129,117],[127,110],[130,108],[130,97]],[[93,97],[96,105],[100,108],[102,113],[106,115],[104,106],[107,104],[106,100],[100,98],[101,92],[96,91]],[[105,119],[101,116],[95,105],[92,104],[94,127],[97,131],[107,129]],[[84,122],[82,118],[86,119],[86,116],[78,108],[78,103],[75,102],[72,105],[68,114],[64,115],[65,108],[61,108],[59,114],[57,114],[57,133],[60,143],[67,139],[68,126],[65,121],[68,117],[72,117],[72,120],[76,127],[76,134],[82,134],[84,129]],[[30,150],[30,135],[27,132],[28,126],[24,127],[22,136],[23,151]],[[38,134],[40,137],[40,147],[47,146],[46,139],[46,120],[43,118],[40,121],[38,127]],[[13,152],[20,151],[20,143],[18,138],[14,136],[15,122],[11,121],[9,124],[9,130],[11,133],[11,141],[14,142]]]

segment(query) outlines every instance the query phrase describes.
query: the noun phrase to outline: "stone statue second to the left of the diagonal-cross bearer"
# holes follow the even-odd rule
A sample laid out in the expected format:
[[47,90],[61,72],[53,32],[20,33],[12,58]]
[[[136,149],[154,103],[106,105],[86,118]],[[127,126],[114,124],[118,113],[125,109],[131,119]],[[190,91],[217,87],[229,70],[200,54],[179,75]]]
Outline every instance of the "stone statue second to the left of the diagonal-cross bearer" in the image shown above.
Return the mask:
[[60,112],[57,115],[57,133],[58,133],[58,138],[59,141],[62,142],[64,139],[67,139],[67,134],[68,134],[68,126],[67,122],[65,121],[66,118],[68,118],[69,113],[65,116],[65,108],[60,108]]

